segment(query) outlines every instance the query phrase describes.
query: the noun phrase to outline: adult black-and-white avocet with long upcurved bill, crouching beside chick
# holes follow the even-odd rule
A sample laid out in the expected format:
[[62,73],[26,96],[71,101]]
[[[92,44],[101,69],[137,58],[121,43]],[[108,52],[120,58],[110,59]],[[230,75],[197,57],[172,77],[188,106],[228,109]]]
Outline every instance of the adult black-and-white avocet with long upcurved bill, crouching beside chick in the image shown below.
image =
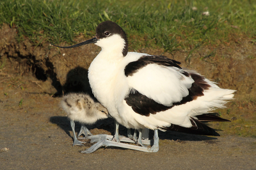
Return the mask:
[[[128,52],[127,36],[115,22],[102,22],[97,26],[95,38],[62,48],[88,43],[102,49],[88,69],[93,95],[115,118],[116,127],[120,123],[139,130],[141,146],[118,143],[116,132],[113,141],[103,139],[85,153],[100,146],[156,152],[159,150],[158,129],[218,135],[201,121],[225,121],[207,113],[224,107],[227,100],[234,97],[234,90],[221,89],[199,73],[183,70],[178,61],[165,56]],[[143,128],[154,130],[151,148],[141,143]]]

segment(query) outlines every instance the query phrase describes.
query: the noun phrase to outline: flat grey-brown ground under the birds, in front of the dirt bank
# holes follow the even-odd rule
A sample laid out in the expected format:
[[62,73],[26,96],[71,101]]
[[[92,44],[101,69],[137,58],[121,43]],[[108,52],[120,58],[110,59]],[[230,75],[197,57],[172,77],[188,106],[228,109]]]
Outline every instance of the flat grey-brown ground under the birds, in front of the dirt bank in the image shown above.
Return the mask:
[[[159,132],[157,153],[100,148],[83,154],[91,144],[72,147],[60,98],[18,92],[1,93],[0,169],[256,169],[256,139],[221,131],[221,137]],[[99,121],[89,128],[93,134],[111,134],[113,124]]]

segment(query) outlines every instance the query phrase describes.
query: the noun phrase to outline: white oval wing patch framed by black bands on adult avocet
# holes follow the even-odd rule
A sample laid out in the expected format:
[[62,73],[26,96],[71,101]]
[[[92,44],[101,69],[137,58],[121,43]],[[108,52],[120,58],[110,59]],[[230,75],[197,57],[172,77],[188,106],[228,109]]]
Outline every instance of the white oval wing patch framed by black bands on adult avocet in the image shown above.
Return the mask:
[[188,96],[188,88],[194,82],[182,74],[183,70],[172,66],[149,64],[127,77],[129,86],[159,104],[171,106]]

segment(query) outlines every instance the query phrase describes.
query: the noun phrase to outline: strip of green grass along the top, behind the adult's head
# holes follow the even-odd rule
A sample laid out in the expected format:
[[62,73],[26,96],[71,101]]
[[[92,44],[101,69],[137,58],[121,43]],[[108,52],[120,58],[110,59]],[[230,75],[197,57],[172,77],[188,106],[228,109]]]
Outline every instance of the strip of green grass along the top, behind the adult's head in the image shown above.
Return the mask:
[[[202,15],[206,11],[209,16]],[[256,1],[0,2],[0,24],[17,27],[19,40],[28,36],[35,45],[42,40],[75,43],[74,38],[81,33],[92,38],[95,27],[104,20],[112,20],[124,28],[130,50],[159,47],[172,52],[191,45],[193,52],[200,45],[215,44],[216,39],[227,42],[232,34],[255,39]]]

